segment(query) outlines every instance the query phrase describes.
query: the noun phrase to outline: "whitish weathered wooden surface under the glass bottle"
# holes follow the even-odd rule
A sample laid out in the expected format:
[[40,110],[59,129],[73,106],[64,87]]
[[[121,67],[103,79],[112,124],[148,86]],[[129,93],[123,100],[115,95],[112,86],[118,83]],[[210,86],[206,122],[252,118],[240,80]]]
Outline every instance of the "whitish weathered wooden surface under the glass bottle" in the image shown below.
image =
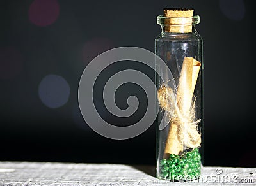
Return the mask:
[[170,182],[155,178],[154,166],[0,162],[0,185],[256,185],[256,168],[204,167],[202,175]]

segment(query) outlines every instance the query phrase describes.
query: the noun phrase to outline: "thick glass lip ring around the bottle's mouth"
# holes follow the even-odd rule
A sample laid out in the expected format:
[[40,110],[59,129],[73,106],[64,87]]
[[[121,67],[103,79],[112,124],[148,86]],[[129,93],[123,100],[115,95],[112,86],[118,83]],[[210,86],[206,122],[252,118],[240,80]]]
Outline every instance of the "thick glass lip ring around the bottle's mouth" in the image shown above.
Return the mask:
[[157,24],[159,25],[196,25],[199,23],[199,15],[193,15],[192,17],[165,17],[164,15],[157,16]]

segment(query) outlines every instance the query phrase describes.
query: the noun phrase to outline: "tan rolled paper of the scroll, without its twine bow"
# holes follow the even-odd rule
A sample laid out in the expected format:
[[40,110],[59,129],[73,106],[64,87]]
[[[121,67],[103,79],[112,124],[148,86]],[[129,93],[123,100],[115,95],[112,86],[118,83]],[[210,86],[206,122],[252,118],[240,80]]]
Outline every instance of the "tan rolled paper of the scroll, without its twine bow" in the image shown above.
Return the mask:
[[[177,105],[180,113],[186,117],[189,115],[191,102],[195,90],[198,73],[201,63],[193,57],[184,57],[182,69],[180,73],[179,86],[177,89]],[[179,122],[179,120],[177,121]],[[168,132],[164,156],[166,154],[179,155],[184,150],[184,145],[178,139],[179,123],[172,123]]]

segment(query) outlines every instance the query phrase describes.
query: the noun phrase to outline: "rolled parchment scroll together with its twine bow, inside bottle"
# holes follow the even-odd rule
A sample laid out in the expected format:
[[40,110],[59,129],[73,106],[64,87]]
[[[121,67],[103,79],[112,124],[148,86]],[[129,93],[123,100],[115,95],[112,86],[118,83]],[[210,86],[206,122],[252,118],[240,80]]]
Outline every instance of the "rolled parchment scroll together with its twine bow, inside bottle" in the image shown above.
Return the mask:
[[200,62],[193,57],[184,57],[176,99],[173,98],[175,96],[170,87],[162,87],[158,91],[159,103],[168,111],[171,123],[165,155],[180,155],[184,146],[195,148],[201,143],[201,136],[197,131],[199,120],[194,121],[195,105],[192,101],[200,66]]

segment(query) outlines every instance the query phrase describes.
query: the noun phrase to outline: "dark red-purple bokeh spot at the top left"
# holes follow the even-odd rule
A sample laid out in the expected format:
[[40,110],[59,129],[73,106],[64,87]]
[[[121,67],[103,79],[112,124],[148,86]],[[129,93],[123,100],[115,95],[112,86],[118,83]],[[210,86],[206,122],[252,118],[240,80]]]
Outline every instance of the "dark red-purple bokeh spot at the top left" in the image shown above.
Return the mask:
[[35,0],[29,7],[29,20],[33,24],[45,27],[56,22],[60,14],[57,0]]

